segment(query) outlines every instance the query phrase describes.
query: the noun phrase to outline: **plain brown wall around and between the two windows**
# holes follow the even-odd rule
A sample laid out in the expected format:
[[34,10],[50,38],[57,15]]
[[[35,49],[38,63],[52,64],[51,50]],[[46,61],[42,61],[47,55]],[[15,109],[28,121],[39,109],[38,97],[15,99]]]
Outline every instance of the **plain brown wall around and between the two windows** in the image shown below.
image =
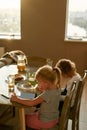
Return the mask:
[[66,0],[22,0],[22,39],[0,40],[6,51],[20,49],[27,55],[60,58],[76,62],[83,73],[87,69],[87,43],[65,42]]

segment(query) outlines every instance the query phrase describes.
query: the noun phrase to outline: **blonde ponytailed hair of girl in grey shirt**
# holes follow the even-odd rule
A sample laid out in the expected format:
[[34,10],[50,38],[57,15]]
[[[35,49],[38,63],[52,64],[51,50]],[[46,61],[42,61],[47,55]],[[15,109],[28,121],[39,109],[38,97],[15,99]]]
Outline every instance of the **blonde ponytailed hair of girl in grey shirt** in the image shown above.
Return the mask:
[[39,77],[43,80],[48,80],[51,83],[56,83],[58,86],[60,86],[61,71],[57,67],[52,68],[49,65],[40,67],[35,74],[36,79]]

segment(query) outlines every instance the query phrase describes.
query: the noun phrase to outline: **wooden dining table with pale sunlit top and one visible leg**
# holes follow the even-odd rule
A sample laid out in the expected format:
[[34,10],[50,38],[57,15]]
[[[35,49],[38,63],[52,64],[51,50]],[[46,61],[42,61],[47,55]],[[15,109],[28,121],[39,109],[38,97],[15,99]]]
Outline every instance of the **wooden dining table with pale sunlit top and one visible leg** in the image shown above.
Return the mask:
[[[36,68],[31,68],[31,71],[36,71]],[[0,68],[0,105],[11,105],[19,108],[19,117],[20,117],[20,130],[25,130],[25,108],[22,105],[12,104],[10,99],[7,97],[10,96],[8,91],[7,77],[8,75],[18,74],[17,65],[11,64]],[[24,75],[24,74],[23,74]],[[16,91],[16,94],[19,95],[20,91]],[[4,95],[4,96],[3,96]]]

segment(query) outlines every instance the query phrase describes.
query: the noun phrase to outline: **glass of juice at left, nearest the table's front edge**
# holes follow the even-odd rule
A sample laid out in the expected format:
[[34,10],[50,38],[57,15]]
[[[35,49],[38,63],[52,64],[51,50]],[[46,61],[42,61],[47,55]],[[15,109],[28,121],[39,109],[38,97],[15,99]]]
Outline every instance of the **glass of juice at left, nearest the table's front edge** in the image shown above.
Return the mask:
[[9,75],[8,76],[8,89],[9,92],[14,92],[15,87],[15,75]]

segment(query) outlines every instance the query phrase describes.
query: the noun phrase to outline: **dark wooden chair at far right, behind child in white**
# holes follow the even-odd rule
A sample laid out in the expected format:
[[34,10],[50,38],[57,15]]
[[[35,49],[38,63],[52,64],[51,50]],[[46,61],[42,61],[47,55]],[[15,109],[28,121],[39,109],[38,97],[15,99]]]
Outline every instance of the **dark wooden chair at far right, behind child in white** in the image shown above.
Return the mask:
[[79,130],[79,115],[80,115],[80,105],[81,97],[87,77],[87,71],[85,70],[83,78],[79,81],[77,86],[77,93],[75,96],[74,106],[70,109],[69,119],[72,120],[72,130]]

